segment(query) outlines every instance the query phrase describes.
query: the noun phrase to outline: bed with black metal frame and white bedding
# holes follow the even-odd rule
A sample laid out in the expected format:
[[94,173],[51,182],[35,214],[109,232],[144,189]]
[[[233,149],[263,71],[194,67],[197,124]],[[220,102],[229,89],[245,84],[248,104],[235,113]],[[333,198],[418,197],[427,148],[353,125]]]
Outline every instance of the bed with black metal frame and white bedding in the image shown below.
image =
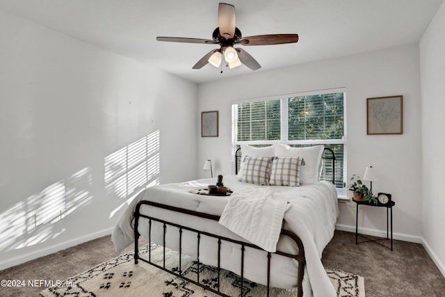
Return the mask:
[[[337,192],[332,181],[318,180],[321,165],[329,163],[322,161],[323,146],[297,149],[284,145],[262,148],[243,145],[241,151],[243,159],[240,157],[241,162],[236,164],[237,171],[239,167],[241,172],[227,175],[223,180],[224,185],[233,191],[232,195],[271,188],[273,193],[280,193],[289,202],[282,216],[276,251],[259,248],[218,223],[230,196],[196,194],[197,190],[215,184],[216,179],[212,178],[152,186],[140,192],[113,230],[116,252],[134,242],[135,262],[140,259],[152,264],[150,259],[138,255],[138,238],[144,236],[150,242],[180,254],[197,257],[199,263],[216,266],[218,271],[224,268],[241,275],[241,280],[246,278],[268,288],[294,289],[297,296],[337,296],[321,263],[321,254],[332,239],[339,214]],[[324,158],[330,159],[331,168],[334,168],[334,154],[329,149],[327,152],[332,156]],[[299,172],[301,184],[298,182],[298,186],[295,186],[295,178],[290,180],[294,186],[281,185],[276,180],[276,185],[270,185],[271,175],[266,185],[261,181],[254,184],[243,179],[252,167],[248,156],[255,161],[270,158],[273,163],[280,158],[295,159],[296,155],[301,157],[297,163],[305,162],[299,168],[307,166]],[[289,184],[288,179],[286,183]],[[165,269],[162,265],[155,266]],[[180,273],[173,274],[182,277]],[[199,276],[195,283],[202,286]],[[242,286],[241,283],[241,291]],[[225,296],[219,287],[207,289]]]

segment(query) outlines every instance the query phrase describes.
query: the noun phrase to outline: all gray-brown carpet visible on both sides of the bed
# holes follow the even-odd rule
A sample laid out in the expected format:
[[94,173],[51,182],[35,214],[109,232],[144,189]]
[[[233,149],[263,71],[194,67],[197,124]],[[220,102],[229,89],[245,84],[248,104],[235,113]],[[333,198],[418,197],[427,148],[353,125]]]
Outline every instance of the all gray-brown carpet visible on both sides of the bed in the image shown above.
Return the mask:
[[[0,271],[0,280],[65,280],[115,256],[105,236]],[[376,243],[356,246],[355,233],[336,231],[322,261],[325,267],[362,275],[366,297],[445,296],[445,278],[420,244],[394,241],[391,252]],[[42,289],[0,287],[0,296],[39,296]]]

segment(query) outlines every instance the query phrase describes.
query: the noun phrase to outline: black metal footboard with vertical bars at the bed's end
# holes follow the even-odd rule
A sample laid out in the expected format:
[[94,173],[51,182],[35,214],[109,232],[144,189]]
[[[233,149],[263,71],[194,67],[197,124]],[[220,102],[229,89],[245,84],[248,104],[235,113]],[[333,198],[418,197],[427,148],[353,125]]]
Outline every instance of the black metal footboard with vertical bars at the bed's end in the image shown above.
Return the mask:
[[[134,225],[134,238],[135,238],[135,243],[134,243],[134,262],[135,264],[138,264],[138,260],[140,259],[143,262],[146,262],[147,264],[151,264],[163,271],[167,271],[168,273],[171,273],[172,275],[177,276],[178,278],[181,278],[183,280],[186,280],[188,282],[192,282],[193,284],[196,284],[197,286],[202,287],[203,289],[207,289],[215,294],[218,294],[220,296],[227,296],[230,297],[226,294],[224,294],[223,292],[220,291],[220,263],[221,263],[221,259],[220,259],[220,248],[221,248],[221,243],[222,241],[229,241],[231,243],[236,243],[240,246],[241,248],[241,289],[240,289],[240,296],[243,296],[243,276],[244,276],[244,251],[246,247],[249,248],[255,248],[258,250],[262,250],[261,248],[259,248],[258,246],[254,246],[252,243],[246,243],[243,241],[237,241],[234,239],[229,239],[225,236],[219,236],[216,234],[211,234],[209,232],[204,232],[201,230],[195,230],[191,227],[186,227],[186,226],[182,226],[182,225],[178,225],[176,223],[170,223],[167,222],[165,220],[161,220],[159,218],[153,218],[152,216],[146,216],[145,214],[140,214],[140,207],[143,204],[147,204],[151,207],[159,207],[161,209],[167,209],[170,211],[177,211],[181,214],[188,214],[191,216],[197,216],[200,218],[207,218],[209,220],[219,220],[220,217],[219,216],[214,216],[211,214],[205,214],[199,211],[193,211],[193,210],[189,210],[189,209],[183,209],[180,207],[172,207],[170,205],[166,205],[166,204],[161,204],[161,203],[157,203],[157,202],[151,202],[151,201],[141,201],[137,204],[136,206],[136,210],[134,212],[134,216],[135,216],[135,225]],[[139,220],[140,218],[144,218],[147,219],[149,221],[149,242],[151,242],[151,233],[152,233],[152,222],[159,222],[163,225],[163,265],[159,265],[156,263],[152,262],[151,259],[151,249],[148,252],[148,259],[143,259],[142,257],[140,257],[139,253],[138,253],[138,239],[139,239],[139,232],[138,232],[138,225],[139,225]],[[179,273],[175,272],[175,271],[171,271],[168,268],[165,268],[165,231],[167,226],[172,226],[172,227],[177,227],[179,230]],[[181,267],[181,251],[182,251],[182,232],[183,230],[187,230],[190,232],[195,232],[197,234],[197,265],[198,265],[198,269],[197,269],[197,280],[191,280],[189,278],[186,278],[186,276],[182,275],[182,267]],[[285,235],[285,236],[289,236],[293,241],[295,241],[296,245],[298,246],[298,254],[297,255],[291,255],[289,253],[286,252],[280,252],[277,251],[275,252],[275,254],[277,255],[282,255],[284,257],[289,257],[292,259],[295,259],[298,262],[298,277],[297,277],[297,284],[298,284],[298,297],[302,297],[303,296],[303,292],[302,292],[302,279],[303,279],[303,274],[304,274],[304,269],[305,269],[305,250],[303,248],[302,245],[302,241],[301,239],[294,234],[293,232],[289,231],[289,230],[281,230],[281,234]],[[202,284],[202,282],[200,282],[200,269],[199,269],[199,265],[200,265],[200,239],[201,236],[209,236],[209,237],[213,237],[215,239],[218,239],[218,286],[217,289],[213,289],[209,286],[207,286],[206,284]],[[270,258],[271,258],[271,253],[267,252],[267,296],[269,296],[269,292],[270,292]]]

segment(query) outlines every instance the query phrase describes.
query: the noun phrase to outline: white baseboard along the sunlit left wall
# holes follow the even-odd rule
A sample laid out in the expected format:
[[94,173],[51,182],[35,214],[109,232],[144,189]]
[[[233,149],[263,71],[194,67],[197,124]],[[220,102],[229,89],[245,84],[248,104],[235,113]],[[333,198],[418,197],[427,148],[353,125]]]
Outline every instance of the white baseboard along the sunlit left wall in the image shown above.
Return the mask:
[[71,248],[72,246],[76,246],[76,245],[84,243],[86,241],[90,241],[90,240],[97,239],[102,236],[110,235],[112,231],[113,231],[113,228],[109,228],[106,230],[102,230],[99,232],[81,236],[76,239],[71,239],[70,241],[58,243],[54,246],[48,246],[47,248],[41,248],[40,250],[35,250],[33,252],[28,252],[24,255],[13,257],[11,259],[7,259],[6,261],[0,262],[0,270],[6,269],[6,268],[9,268],[12,266],[16,266],[16,265],[22,264],[24,262],[28,262],[33,259],[37,259],[39,257],[43,257],[46,255],[52,254],[53,252],[58,252],[59,250],[65,250],[65,248]]

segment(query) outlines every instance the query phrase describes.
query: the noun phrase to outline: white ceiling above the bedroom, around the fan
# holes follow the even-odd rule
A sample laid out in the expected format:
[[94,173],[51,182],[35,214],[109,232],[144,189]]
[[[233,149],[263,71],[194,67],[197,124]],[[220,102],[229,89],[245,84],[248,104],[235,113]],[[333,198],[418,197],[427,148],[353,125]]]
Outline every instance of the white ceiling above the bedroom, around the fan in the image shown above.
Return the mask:
[[[298,33],[298,43],[243,47],[259,71],[418,42],[444,0],[227,0],[243,36]],[[159,42],[156,36],[211,39],[216,0],[0,0],[0,9],[197,83],[223,74],[192,66],[217,45]],[[238,47],[242,47],[239,45]]]

